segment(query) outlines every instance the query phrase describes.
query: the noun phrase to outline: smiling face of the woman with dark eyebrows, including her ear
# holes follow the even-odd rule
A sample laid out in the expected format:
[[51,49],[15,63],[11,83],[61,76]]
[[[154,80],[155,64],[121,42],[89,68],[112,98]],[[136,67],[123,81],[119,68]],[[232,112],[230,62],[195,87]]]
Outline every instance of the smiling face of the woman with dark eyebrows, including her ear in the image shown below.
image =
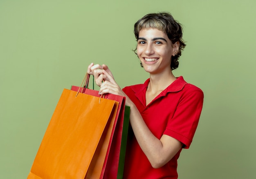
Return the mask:
[[171,57],[179,48],[166,33],[158,29],[141,29],[137,40],[137,55],[145,71],[150,74],[171,71]]

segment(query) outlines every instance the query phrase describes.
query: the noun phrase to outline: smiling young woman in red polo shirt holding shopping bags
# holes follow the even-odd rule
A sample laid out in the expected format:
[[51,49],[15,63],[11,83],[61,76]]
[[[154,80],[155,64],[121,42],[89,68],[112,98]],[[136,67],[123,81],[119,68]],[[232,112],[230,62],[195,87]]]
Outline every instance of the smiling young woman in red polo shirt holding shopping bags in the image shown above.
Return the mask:
[[[99,94],[126,96],[130,124],[124,179],[177,179],[177,159],[189,148],[202,110],[200,88],[175,77],[185,47],[182,26],[169,13],[150,13],[135,23],[135,50],[149,73],[144,84],[123,90],[106,65],[88,66]],[[104,82],[102,82],[104,81]]]

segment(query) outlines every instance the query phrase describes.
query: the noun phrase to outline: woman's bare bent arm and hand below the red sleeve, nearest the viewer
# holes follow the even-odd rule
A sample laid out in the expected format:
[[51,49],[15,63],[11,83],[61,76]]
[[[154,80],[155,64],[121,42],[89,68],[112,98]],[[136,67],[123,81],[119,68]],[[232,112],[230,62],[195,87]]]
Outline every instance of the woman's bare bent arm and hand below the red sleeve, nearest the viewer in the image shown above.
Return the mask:
[[[101,70],[101,73],[104,82],[102,83],[101,81],[99,94],[110,93],[126,96],[126,105],[130,106],[130,124],[139,146],[147,156],[153,168],[164,166],[180,150],[182,143],[168,135],[163,135],[160,140],[157,139],[148,129],[148,126],[145,124],[135,104],[117,85],[112,77],[112,73],[104,69]],[[104,79],[104,77],[106,78]],[[101,80],[101,78],[99,77],[98,80]]]

